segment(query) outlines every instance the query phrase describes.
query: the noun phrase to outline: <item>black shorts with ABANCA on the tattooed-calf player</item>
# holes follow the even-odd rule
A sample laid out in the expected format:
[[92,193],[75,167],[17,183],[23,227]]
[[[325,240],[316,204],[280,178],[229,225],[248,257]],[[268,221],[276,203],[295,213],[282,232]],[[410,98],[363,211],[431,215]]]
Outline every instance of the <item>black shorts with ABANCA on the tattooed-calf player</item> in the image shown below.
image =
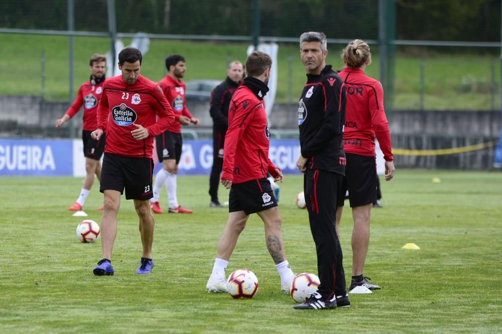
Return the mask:
[[228,212],[252,214],[277,206],[270,181],[266,178],[232,184],[228,195]]

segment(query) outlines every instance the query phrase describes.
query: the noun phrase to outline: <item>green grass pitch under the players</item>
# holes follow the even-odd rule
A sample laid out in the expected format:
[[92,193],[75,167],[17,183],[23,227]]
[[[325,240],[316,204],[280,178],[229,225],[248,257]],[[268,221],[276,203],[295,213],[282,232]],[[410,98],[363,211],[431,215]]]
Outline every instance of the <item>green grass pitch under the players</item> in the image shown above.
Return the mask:
[[[432,183],[439,177],[441,183]],[[80,178],[0,179],[0,332],[36,333],[401,333],[500,332],[502,324],[502,173],[402,171],[383,182],[384,208],[372,211],[365,274],[383,286],[350,295],[349,309],[294,310],[280,292],[263,224],[252,216],[230,258],[229,274],[253,270],[260,288],[251,300],[209,294],[226,209],[209,208],[207,176],[178,177],[178,198],[191,215],[156,215],[155,268],[137,275],[138,219],[122,198],[113,249],[114,276],[97,277],[99,239],[80,243],[82,218],[67,210]],[[301,176],[281,185],[283,237],[292,269],[316,272],[307,212],[295,207]],[[227,191],[220,189],[220,200]],[[161,204],[166,206],[167,195]],[[97,184],[84,209],[100,222]],[[352,221],[341,225],[346,278]],[[404,250],[407,243],[420,250]]]

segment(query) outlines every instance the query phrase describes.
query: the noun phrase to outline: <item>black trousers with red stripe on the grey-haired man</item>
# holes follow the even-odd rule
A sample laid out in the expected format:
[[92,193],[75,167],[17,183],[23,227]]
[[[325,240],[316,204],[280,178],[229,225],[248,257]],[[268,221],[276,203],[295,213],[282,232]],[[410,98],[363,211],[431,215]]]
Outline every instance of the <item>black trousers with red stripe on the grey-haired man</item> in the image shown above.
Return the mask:
[[333,294],[339,296],[346,293],[342,249],[335,229],[336,203],[342,177],[338,173],[316,169],[307,169],[304,175],[305,202],[321,281],[318,292],[325,299],[331,299]]

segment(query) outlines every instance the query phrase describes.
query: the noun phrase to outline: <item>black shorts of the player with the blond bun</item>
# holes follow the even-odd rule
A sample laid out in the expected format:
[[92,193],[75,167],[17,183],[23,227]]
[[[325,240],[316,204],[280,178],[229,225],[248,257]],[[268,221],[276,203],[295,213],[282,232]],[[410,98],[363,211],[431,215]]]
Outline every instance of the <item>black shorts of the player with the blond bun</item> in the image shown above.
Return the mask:
[[370,204],[376,201],[376,160],[359,154],[345,153],[347,165],[342,181],[338,206],[343,206],[348,190],[350,207]]

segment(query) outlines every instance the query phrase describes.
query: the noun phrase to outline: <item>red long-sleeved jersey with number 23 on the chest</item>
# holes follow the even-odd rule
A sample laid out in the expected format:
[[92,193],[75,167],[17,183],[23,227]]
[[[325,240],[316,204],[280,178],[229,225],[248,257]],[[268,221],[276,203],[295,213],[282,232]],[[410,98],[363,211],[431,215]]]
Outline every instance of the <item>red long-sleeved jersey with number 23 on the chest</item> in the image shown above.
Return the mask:
[[[173,122],[171,106],[155,82],[141,75],[133,85],[121,75],[105,81],[97,109],[97,126],[106,129],[105,152],[151,158],[154,137]],[[134,124],[147,128],[148,138],[136,140],[131,134],[137,129]]]

